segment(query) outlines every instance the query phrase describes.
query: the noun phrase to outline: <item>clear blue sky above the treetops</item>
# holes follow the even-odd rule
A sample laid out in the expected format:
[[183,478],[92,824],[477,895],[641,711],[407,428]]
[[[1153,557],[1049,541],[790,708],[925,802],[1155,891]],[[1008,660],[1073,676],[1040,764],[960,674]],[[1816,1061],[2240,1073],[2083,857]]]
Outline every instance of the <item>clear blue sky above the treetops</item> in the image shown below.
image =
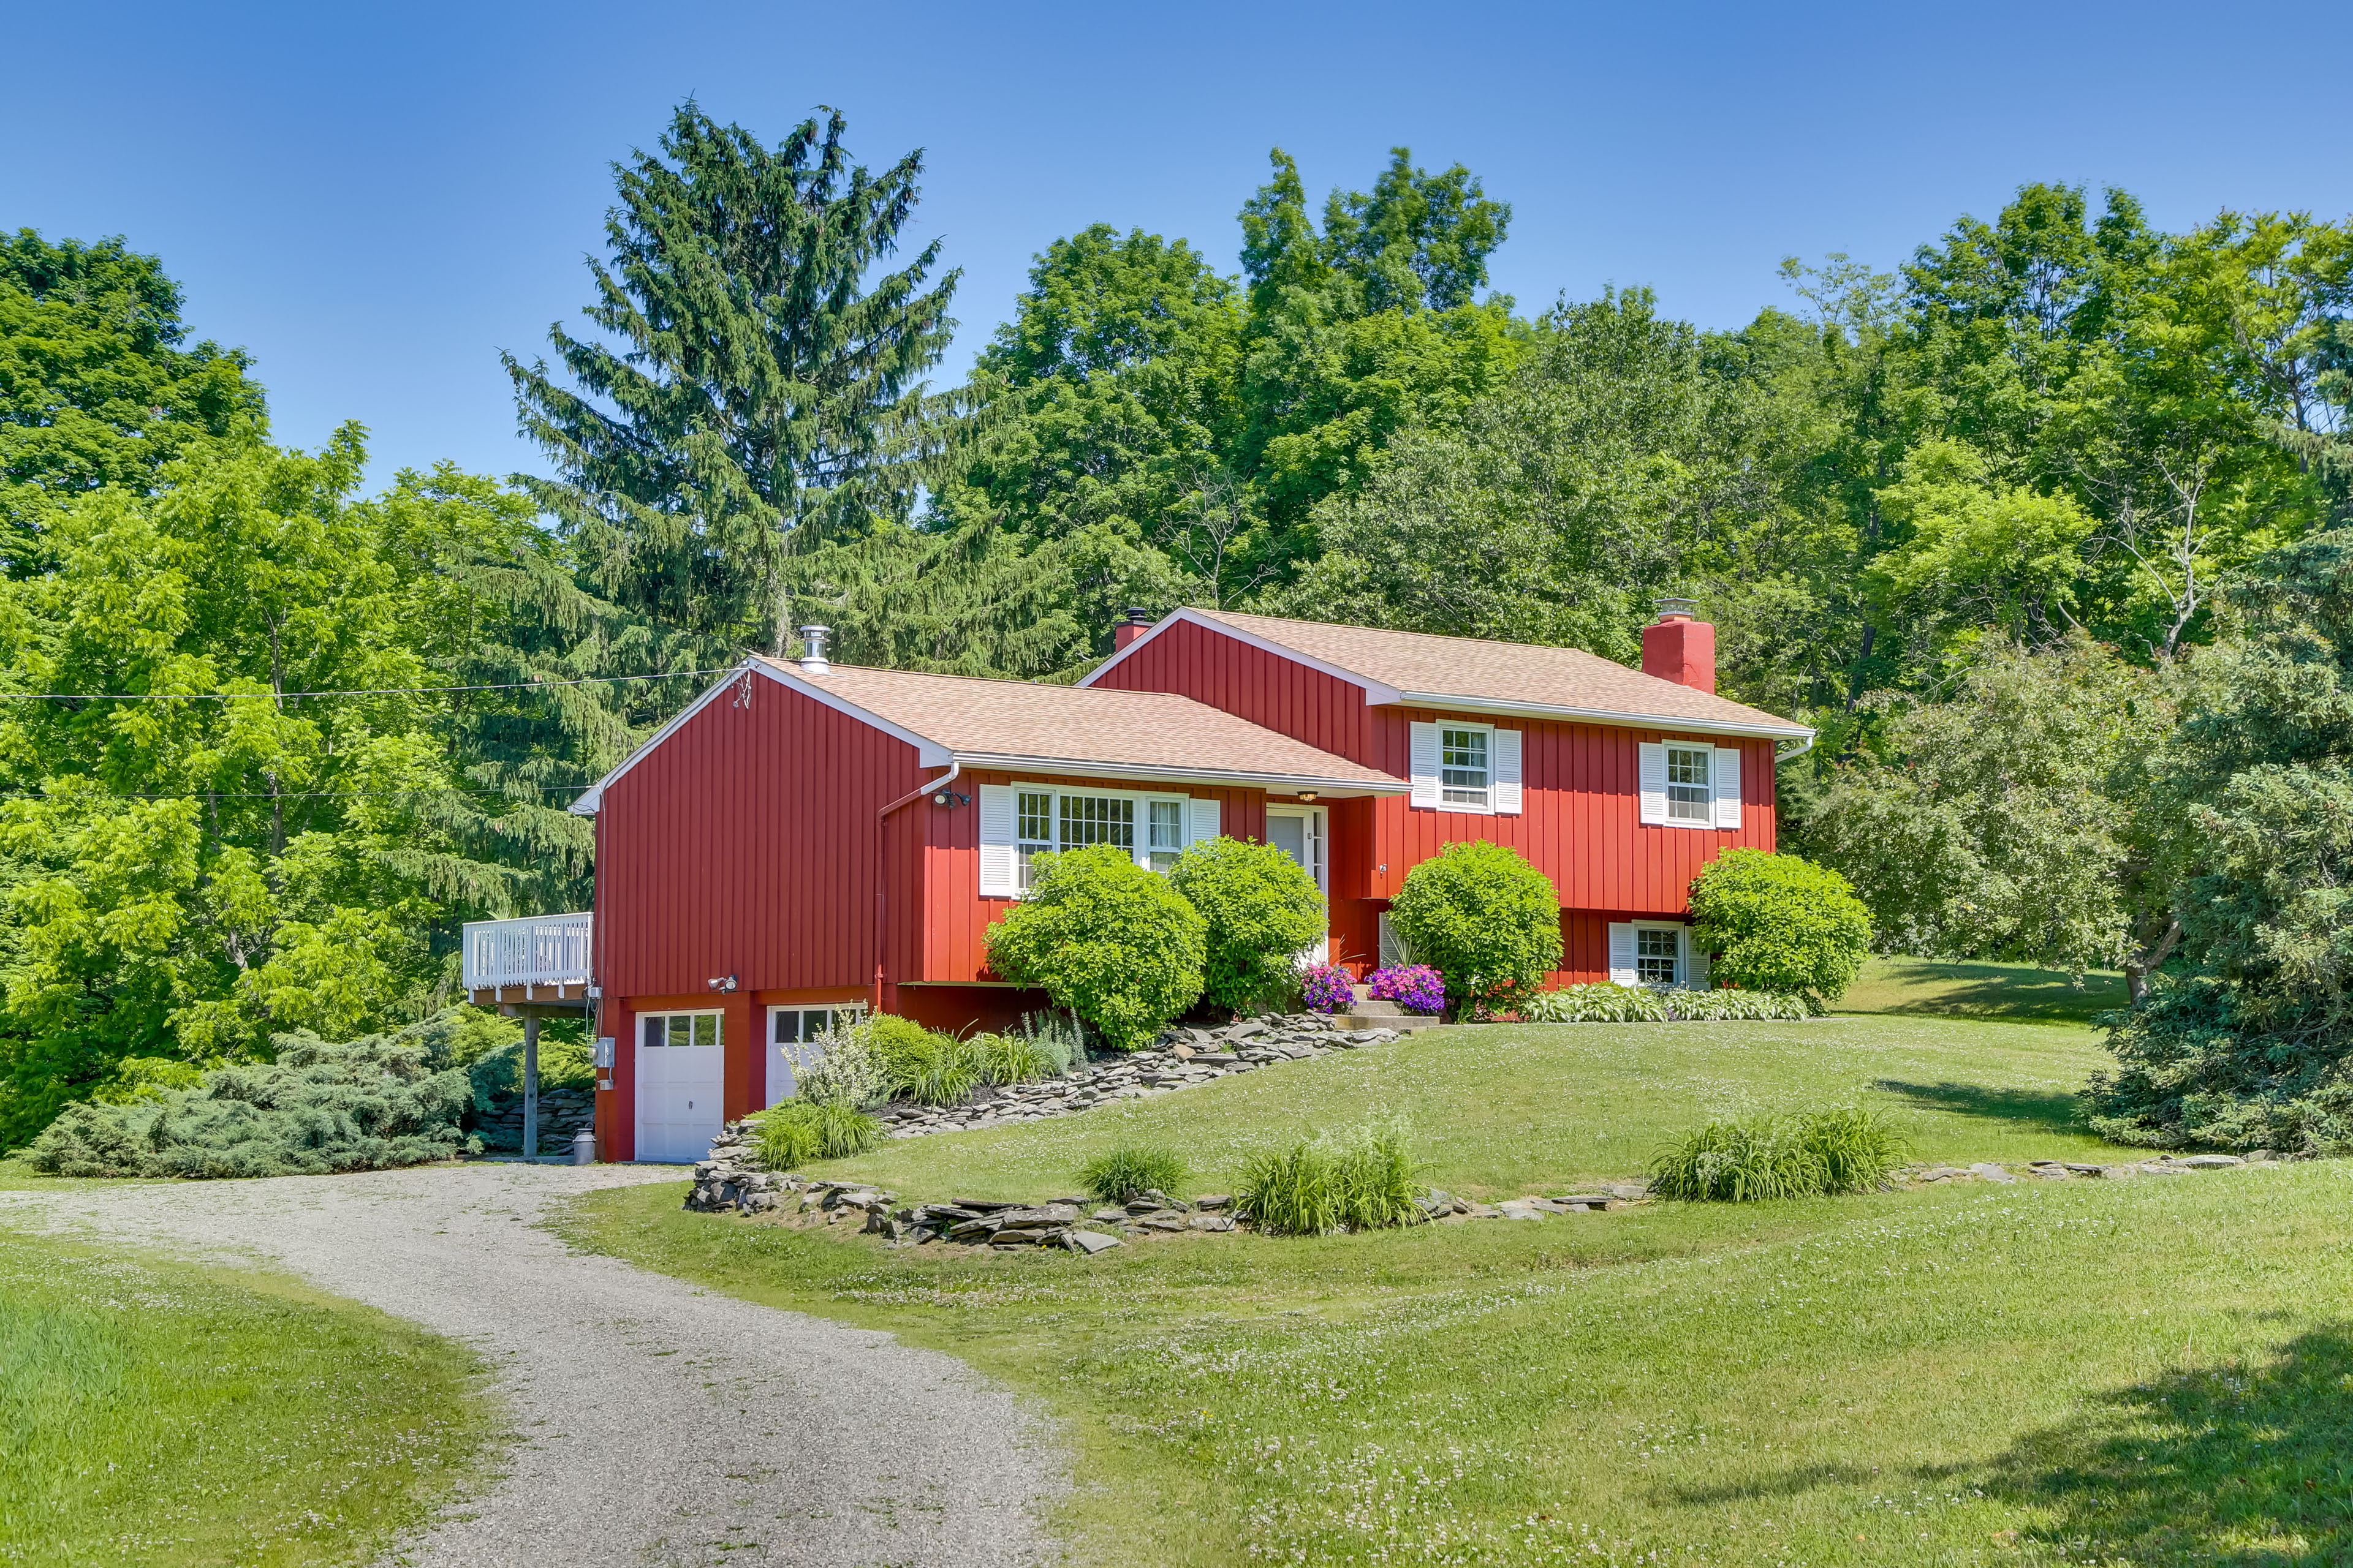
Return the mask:
[[1786,254],[1901,261],[2031,179],[2162,226],[2353,212],[2346,12],[2139,5],[31,5],[0,9],[0,226],[120,233],[198,336],[259,360],[278,437],[374,433],[376,477],[532,468],[496,350],[588,301],[607,165],[671,106],[776,141],[816,103],[927,150],[965,268],[953,378],[1031,256],[1092,221],[1233,263],[1266,150],[1311,195],[1407,143],[1513,205],[1522,306],[1642,282],[1729,327]]

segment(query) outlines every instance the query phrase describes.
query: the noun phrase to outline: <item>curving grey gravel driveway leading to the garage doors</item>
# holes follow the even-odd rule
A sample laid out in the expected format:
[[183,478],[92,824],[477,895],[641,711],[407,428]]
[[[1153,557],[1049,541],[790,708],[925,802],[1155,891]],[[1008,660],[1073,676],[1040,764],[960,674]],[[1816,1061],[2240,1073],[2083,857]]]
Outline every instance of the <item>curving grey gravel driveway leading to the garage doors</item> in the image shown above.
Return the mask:
[[567,1251],[534,1220],[631,1166],[428,1166],[0,1192],[0,1222],[261,1260],[473,1345],[506,1474],[388,1559],[431,1568],[1035,1563],[1052,1434],[953,1356]]

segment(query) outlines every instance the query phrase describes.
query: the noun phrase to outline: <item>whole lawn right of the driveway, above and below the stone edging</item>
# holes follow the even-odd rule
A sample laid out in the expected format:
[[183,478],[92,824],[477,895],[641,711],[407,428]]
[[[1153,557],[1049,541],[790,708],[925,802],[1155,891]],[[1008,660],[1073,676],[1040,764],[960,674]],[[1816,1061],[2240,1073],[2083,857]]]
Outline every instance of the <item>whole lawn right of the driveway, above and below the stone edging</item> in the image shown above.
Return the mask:
[[[1979,1006],[2047,1001],[2033,971],[1969,983]],[[1151,1138],[1214,1190],[1254,1143],[1405,1114],[1435,1182],[1497,1197],[1631,1175],[1713,1112],[1840,1098],[1922,1157],[2113,1159],[2071,1128],[2097,1041],[1925,1009],[1433,1030],[831,1171],[1049,1197],[1087,1152]],[[1078,1561],[2353,1561],[2353,1166],[2334,1161],[1092,1260],[885,1251],[680,1213],[675,1187],[584,1199],[567,1234],[1040,1396],[1080,1453]]]

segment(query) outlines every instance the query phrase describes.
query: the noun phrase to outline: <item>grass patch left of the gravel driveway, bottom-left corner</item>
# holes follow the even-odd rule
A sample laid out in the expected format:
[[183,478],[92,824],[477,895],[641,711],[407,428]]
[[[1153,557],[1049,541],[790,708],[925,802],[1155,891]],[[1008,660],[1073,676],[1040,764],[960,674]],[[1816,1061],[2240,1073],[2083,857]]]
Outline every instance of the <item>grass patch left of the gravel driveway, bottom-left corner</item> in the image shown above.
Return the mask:
[[473,1378],[292,1281],[0,1227],[0,1563],[369,1561],[480,1455]]

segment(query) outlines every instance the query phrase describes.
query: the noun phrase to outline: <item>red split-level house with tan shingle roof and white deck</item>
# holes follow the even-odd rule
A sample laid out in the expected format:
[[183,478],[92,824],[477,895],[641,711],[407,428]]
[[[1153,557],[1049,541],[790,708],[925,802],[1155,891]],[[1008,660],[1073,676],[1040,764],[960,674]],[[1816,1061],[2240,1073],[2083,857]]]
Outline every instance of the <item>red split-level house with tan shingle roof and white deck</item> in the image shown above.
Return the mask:
[[[1497,839],[1560,889],[1558,983],[1704,983],[1685,889],[1722,849],[1774,846],[1774,748],[1812,743],[1715,696],[1713,628],[1680,602],[1640,672],[1179,609],[1132,614],[1078,686],[1035,686],[833,668],[805,632],[814,656],[746,661],[574,804],[598,823],[593,943],[576,914],[468,931],[478,1001],[595,1001],[605,1159],[699,1157],[791,1093],[779,1046],[833,1013],[965,1030],[1042,1006],[981,940],[1042,849],[1162,867],[1221,832],[1278,844],[1362,973],[1402,957],[1384,910],[1405,875]],[[532,957],[584,950],[586,976]]]

